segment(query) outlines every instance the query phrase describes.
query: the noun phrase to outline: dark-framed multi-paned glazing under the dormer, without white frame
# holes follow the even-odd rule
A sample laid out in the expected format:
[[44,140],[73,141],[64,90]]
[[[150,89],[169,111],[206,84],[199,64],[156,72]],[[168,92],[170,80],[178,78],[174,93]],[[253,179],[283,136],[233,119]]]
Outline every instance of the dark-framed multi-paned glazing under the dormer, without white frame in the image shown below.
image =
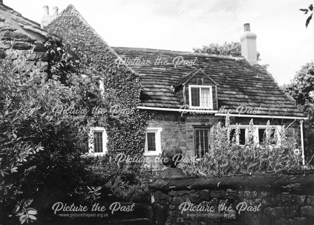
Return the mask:
[[204,156],[208,153],[208,137],[209,137],[210,128],[205,127],[195,127],[194,128],[194,142],[195,142],[195,155],[199,156],[199,146],[201,146],[201,156]]

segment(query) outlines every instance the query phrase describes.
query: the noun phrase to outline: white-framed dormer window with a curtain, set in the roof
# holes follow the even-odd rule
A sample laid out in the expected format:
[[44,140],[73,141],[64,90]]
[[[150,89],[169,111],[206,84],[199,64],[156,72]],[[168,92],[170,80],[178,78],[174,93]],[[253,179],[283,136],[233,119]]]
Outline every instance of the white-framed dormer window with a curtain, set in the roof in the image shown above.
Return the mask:
[[212,86],[189,85],[190,109],[213,109]]

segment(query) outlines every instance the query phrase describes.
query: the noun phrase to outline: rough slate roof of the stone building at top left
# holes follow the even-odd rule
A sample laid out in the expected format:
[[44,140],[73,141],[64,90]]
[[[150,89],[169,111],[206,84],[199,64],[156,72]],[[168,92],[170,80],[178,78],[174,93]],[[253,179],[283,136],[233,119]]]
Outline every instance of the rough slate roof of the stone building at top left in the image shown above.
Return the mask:
[[0,3],[0,31],[10,32],[12,39],[19,40],[28,36],[29,41],[44,41],[47,32],[41,29],[39,23],[29,20],[14,9]]

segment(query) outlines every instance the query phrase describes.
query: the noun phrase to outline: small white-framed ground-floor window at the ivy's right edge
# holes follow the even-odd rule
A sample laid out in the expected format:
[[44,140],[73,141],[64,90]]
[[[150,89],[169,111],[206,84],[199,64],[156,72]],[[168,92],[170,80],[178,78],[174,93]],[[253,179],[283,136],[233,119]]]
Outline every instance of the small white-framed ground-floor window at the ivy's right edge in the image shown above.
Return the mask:
[[161,153],[161,127],[146,129],[145,152],[143,155],[159,155]]

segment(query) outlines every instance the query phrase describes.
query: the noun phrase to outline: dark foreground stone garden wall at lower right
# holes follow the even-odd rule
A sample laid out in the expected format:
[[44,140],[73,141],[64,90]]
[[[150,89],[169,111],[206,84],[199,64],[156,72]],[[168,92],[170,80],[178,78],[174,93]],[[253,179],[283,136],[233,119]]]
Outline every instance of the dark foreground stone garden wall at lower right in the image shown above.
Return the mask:
[[313,175],[307,170],[159,179],[150,185],[154,224],[313,224]]

